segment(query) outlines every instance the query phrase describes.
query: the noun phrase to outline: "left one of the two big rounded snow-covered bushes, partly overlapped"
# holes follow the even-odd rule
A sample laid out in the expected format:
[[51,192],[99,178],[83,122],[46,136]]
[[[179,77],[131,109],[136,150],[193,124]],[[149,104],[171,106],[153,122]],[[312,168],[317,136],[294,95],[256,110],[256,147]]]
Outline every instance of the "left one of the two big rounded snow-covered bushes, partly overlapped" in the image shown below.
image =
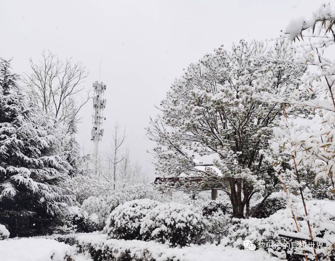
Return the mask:
[[106,221],[109,238],[141,239],[141,220],[160,203],[151,199],[136,199],[116,207]]

